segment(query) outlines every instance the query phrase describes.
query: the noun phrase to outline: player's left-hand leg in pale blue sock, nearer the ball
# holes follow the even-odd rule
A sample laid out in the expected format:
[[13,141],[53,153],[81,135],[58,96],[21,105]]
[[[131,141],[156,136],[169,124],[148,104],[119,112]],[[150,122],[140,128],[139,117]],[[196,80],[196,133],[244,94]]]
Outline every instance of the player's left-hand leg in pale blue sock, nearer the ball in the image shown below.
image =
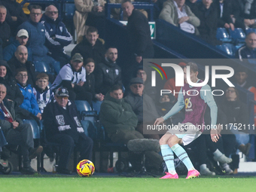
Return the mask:
[[168,169],[168,172],[166,172],[166,175],[162,178],[178,178],[178,174],[176,173],[174,166],[174,155],[172,149],[168,145],[168,141],[172,136],[174,135],[167,132],[159,141],[163,160],[165,161]]

